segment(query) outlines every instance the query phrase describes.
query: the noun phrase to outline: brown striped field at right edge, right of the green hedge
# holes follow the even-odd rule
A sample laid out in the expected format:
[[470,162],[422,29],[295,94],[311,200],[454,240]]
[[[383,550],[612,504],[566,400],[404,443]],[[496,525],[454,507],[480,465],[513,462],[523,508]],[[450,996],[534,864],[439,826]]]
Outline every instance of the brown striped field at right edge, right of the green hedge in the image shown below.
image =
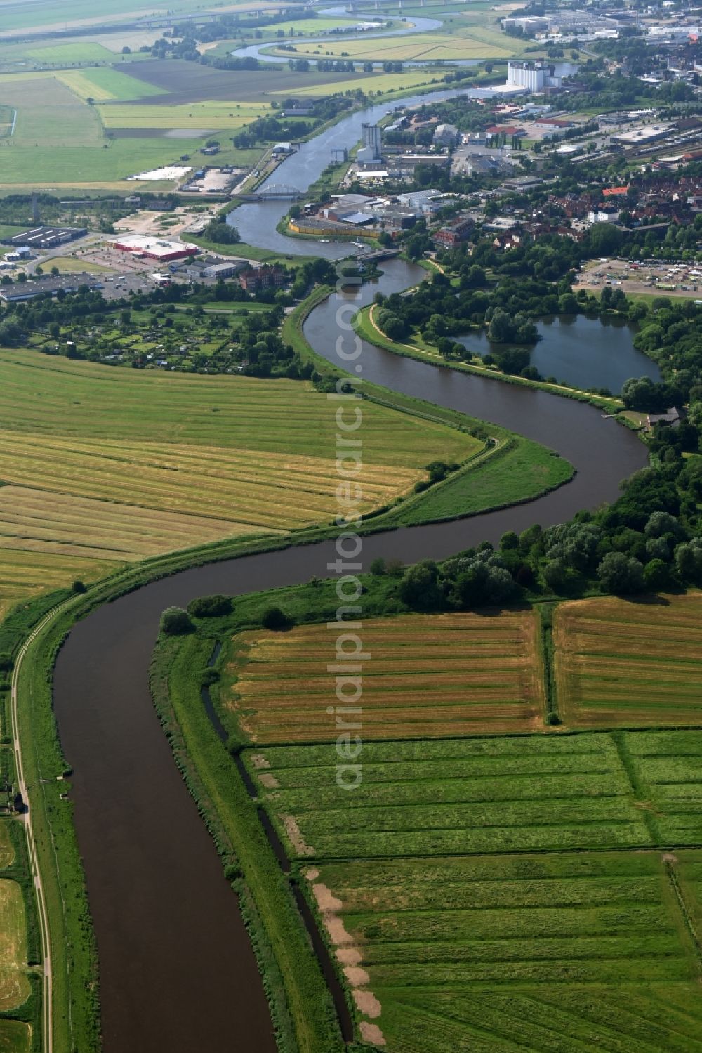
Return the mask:
[[561,603],[554,643],[568,727],[702,722],[701,593]]

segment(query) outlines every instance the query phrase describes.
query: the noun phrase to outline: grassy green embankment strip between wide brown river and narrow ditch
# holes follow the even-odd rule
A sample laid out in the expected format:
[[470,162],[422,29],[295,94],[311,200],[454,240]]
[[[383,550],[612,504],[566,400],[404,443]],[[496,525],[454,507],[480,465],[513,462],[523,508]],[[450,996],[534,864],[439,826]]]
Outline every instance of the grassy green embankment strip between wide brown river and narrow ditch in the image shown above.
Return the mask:
[[328,988],[240,773],[200,698],[213,641],[161,637],[152,691],[176,762],[238,895],[281,1053],[341,1053]]

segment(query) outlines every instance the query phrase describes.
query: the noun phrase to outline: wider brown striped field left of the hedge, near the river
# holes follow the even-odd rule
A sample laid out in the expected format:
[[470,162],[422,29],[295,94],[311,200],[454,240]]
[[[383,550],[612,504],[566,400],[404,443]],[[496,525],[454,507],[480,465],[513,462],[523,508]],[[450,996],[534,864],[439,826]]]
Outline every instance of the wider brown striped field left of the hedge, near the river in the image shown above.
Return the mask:
[[[363,647],[364,739],[543,728],[535,612],[366,619]],[[330,648],[323,624],[236,636],[223,707],[241,734],[256,743],[328,740]]]

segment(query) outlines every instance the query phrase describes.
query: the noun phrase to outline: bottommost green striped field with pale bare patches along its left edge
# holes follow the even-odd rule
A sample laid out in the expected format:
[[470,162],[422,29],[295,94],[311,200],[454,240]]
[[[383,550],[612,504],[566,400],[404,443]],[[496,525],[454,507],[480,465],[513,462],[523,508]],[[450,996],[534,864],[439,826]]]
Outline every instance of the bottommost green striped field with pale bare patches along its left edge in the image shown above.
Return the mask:
[[699,882],[701,866],[700,853],[617,852],[303,873],[361,1035],[388,1053],[693,1053],[699,952],[675,882]]

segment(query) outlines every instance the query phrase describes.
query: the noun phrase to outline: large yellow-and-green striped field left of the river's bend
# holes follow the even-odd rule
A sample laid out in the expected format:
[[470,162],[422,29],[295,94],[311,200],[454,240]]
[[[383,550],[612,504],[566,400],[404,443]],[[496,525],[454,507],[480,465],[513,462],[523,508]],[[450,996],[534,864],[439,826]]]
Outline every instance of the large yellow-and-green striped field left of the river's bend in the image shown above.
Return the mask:
[[[307,382],[114,370],[0,351],[0,604],[337,513],[336,424]],[[467,433],[364,403],[367,513]]]

